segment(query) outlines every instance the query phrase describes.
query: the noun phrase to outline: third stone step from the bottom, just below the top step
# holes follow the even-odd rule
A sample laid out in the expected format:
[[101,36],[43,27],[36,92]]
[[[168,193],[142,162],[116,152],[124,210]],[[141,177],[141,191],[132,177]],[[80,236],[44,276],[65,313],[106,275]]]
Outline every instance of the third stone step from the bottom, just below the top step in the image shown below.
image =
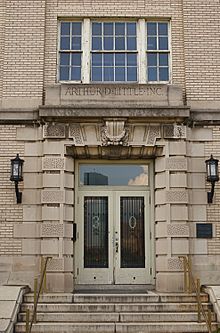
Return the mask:
[[[208,303],[203,303],[204,308],[208,309]],[[23,303],[21,311],[26,309],[33,311],[33,303]],[[64,303],[39,303],[38,312],[196,312],[196,303],[81,303],[81,304],[64,304]]]

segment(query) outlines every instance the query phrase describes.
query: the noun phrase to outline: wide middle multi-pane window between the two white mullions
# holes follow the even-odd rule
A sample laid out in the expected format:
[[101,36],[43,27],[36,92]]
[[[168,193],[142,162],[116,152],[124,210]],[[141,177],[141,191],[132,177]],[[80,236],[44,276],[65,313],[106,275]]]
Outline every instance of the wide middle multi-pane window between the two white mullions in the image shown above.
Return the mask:
[[91,81],[137,81],[136,23],[92,22]]

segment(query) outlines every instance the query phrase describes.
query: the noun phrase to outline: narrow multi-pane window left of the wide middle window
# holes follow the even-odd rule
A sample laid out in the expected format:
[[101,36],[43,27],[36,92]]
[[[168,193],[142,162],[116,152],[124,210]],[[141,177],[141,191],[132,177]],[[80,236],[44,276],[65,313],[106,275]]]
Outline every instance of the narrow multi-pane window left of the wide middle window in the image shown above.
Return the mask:
[[60,73],[61,81],[81,80],[82,23],[61,22]]

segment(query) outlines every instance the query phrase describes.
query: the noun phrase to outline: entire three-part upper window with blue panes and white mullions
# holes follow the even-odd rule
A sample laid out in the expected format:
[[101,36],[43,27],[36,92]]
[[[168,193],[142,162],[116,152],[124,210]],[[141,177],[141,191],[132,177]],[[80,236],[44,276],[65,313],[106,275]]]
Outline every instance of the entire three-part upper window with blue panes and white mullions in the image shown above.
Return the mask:
[[169,22],[61,21],[58,81],[170,82]]

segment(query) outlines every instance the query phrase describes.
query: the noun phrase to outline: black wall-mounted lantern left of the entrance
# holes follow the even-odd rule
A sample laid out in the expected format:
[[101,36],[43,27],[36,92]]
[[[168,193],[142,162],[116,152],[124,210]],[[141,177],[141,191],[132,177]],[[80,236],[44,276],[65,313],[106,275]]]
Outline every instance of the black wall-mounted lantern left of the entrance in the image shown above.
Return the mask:
[[15,193],[17,198],[17,203],[22,202],[22,193],[19,192],[18,182],[23,180],[23,163],[24,160],[20,159],[19,154],[16,158],[11,160],[11,177],[10,180],[15,182]]

